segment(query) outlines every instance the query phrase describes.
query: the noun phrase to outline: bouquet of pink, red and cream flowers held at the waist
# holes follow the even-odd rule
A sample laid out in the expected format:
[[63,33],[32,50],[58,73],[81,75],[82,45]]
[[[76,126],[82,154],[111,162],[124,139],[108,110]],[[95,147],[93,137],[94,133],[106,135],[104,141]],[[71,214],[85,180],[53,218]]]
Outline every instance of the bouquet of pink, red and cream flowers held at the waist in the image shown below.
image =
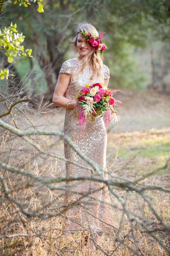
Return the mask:
[[[103,117],[104,113],[106,129],[111,121],[119,122],[120,116],[118,116],[115,105],[116,102],[121,102],[112,97],[117,91],[120,90],[106,89],[104,84],[96,83],[90,86],[86,84],[86,86],[78,92],[75,97],[76,102],[74,107],[80,104],[78,121],[80,126],[83,125],[83,130],[86,126],[87,118],[90,117],[90,113],[93,111],[100,117]],[[95,122],[96,117],[92,118],[92,121]]]

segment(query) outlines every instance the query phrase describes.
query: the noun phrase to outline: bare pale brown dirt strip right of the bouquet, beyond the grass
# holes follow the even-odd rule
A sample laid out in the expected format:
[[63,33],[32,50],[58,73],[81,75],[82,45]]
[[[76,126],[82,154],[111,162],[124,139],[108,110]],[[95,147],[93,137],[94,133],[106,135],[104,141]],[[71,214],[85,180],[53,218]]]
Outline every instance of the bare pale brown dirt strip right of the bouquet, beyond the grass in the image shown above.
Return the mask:
[[170,126],[170,94],[155,91],[123,90],[115,94],[121,125],[112,132],[144,131]]

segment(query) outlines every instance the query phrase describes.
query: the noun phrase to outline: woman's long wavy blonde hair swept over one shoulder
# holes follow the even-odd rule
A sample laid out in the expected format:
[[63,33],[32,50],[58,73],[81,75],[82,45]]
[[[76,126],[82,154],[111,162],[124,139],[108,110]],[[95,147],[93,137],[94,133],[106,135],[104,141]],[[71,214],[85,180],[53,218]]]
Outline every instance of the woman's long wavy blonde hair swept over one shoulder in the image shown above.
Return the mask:
[[[74,37],[73,42],[74,42],[74,46],[76,48],[76,53],[78,53],[77,51],[77,37],[78,34],[82,31],[85,30],[85,32],[90,33],[91,35],[97,37],[99,36],[99,33],[97,32],[96,28],[91,25],[90,23],[79,23],[78,24],[78,28],[77,28],[77,36]],[[88,43],[88,41],[87,41]],[[90,43],[88,43],[90,45]],[[80,72],[83,71],[83,69],[86,67],[87,65],[87,61],[88,58],[91,56],[91,69],[92,69],[92,76],[91,79],[93,80],[93,78],[97,75],[98,77],[101,77],[101,70],[103,68],[103,60],[102,60],[102,56],[99,52],[96,51],[90,51],[89,53],[86,54],[86,56],[84,56],[81,60],[80,60],[80,68],[74,73],[73,75],[73,79],[76,75],[78,75]]]

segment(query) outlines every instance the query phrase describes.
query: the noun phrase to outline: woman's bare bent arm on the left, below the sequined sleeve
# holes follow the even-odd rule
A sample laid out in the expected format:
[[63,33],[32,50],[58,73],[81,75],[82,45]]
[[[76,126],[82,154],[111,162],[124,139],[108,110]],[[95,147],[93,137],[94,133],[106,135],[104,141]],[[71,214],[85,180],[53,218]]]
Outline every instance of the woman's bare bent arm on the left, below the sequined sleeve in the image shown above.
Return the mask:
[[53,104],[55,106],[62,108],[74,108],[74,103],[68,104],[70,100],[64,97],[64,93],[70,82],[70,77],[71,75],[67,73],[59,74],[53,95]]

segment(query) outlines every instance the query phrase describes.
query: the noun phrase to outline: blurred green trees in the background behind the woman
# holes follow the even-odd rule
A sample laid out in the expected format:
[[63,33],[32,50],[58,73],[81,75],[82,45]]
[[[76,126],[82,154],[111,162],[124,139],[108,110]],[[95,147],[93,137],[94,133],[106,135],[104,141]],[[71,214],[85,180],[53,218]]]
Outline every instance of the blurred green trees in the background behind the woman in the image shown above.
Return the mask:
[[[29,67],[43,70],[44,78],[39,81],[41,88],[38,92],[44,92],[47,88],[46,100],[52,97],[61,64],[68,57],[74,56],[71,46],[67,45],[75,35],[76,24],[81,21],[91,22],[100,32],[106,31],[104,38],[109,50],[104,55],[104,62],[110,67],[111,83],[113,79],[115,87],[137,89],[146,88],[150,84],[150,87],[155,88],[158,86],[154,82],[157,80],[157,68],[162,70],[162,74],[167,74],[166,57],[160,67],[154,62],[152,52],[155,41],[164,42],[165,47],[162,49],[167,52],[169,1],[47,0],[43,5],[45,12],[38,13],[33,4],[25,8],[24,5],[8,3],[5,15],[8,15],[10,21],[17,21],[19,30],[26,36],[26,47],[33,49],[34,58],[29,63],[25,61],[28,63],[25,64],[25,70],[18,70],[15,65],[19,76],[22,77]],[[137,67],[134,54],[140,54],[141,49],[151,44],[148,58],[152,60],[148,65],[152,67],[152,81],[149,81],[144,72],[141,73],[140,66]],[[33,86],[37,87],[36,84]]]

